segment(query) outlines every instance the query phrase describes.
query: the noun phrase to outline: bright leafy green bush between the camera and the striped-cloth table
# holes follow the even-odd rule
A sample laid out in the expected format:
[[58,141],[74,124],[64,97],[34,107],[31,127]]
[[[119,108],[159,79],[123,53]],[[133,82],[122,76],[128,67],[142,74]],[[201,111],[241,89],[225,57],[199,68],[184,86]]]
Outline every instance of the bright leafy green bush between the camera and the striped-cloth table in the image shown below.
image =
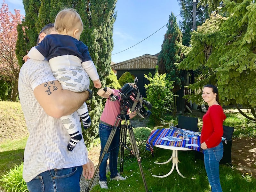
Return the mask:
[[158,74],[156,72],[155,76],[149,73],[148,76],[149,84],[145,85],[147,100],[152,104],[152,112],[149,117],[150,123],[154,125],[160,125],[161,121],[164,119],[164,114],[172,110],[173,103],[173,81],[169,82],[165,79],[165,74]]

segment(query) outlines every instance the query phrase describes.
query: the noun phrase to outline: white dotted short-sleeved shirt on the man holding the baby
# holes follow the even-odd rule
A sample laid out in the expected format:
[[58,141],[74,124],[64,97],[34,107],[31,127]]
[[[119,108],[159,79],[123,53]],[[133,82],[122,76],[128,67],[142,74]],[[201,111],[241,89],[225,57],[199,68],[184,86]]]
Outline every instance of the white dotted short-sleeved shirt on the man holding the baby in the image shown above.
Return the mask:
[[[30,59],[20,69],[20,104],[29,131],[23,166],[23,179],[26,182],[47,170],[80,166],[88,162],[83,140],[76,144],[72,152],[68,151],[70,136],[60,119],[48,116],[34,96],[33,91],[38,85],[55,80],[46,60]],[[77,124],[81,125],[76,112],[75,117]]]

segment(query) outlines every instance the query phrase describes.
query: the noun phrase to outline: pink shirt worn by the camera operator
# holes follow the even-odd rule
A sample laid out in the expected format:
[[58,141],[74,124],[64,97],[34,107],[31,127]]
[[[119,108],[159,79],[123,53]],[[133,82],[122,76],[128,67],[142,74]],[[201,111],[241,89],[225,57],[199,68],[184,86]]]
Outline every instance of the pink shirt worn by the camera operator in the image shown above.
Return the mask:
[[[120,99],[120,91],[112,89],[113,95],[116,95]],[[103,109],[100,121],[103,121],[107,124],[114,126],[116,121],[116,116],[121,113],[121,103],[119,100],[110,101],[110,98],[107,98],[105,107]]]

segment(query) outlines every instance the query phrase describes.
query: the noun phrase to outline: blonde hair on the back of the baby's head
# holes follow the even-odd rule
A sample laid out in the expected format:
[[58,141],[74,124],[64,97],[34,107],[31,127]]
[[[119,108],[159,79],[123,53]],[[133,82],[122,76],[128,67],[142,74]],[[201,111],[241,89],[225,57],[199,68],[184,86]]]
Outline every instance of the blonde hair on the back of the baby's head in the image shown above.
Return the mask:
[[84,29],[83,21],[75,9],[63,9],[60,11],[54,22],[54,28],[58,33],[67,33],[71,30],[79,29],[81,32]]

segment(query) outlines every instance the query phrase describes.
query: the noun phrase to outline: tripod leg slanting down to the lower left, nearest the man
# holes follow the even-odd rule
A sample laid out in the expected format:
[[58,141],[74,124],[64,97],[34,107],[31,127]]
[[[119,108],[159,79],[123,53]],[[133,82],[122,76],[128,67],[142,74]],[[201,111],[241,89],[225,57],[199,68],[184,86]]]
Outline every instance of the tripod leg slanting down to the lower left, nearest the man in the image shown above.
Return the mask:
[[105,145],[105,147],[104,147],[104,149],[103,149],[103,152],[102,152],[102,154],[101,154],[101,156],[100,156],[99,163],[98,163],[98,165],[97,165],[97,167],[96,167],[96,169],[95,169],[95,171],[94,171],[92,180],[91,180],[89,186],[85,188],[85,192],[89,192],[90,188],[92,187],[93,180],[95,179],[96,174],[97,174],[97,172],[98,172],[98,170],[99,170],[99,168],[100,168],[100,164],[101,164],[101,162],[102,162],[102,160],[103,160],[105,154],[108,153],[109,146],[110,146],[110,144],[111,144],[111,142],[112,142],[112,140],[113,140],[113,138],[114,138],[114,136],[115,136],[116,129],[118,128],[118,126],[116,126],[116,125],[119,125],[120,123],[121,123],[121,119],[120,119],[120,118],[119,118],[119,119],[117,118],[117,119],[116,119],[116,122],[115,122],[115,126],[111,129],[111,132],[110,132],[110,135],[109,135],[109,137],[108,137],[107,143],[106,143],[106,145]]

